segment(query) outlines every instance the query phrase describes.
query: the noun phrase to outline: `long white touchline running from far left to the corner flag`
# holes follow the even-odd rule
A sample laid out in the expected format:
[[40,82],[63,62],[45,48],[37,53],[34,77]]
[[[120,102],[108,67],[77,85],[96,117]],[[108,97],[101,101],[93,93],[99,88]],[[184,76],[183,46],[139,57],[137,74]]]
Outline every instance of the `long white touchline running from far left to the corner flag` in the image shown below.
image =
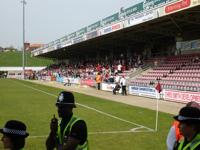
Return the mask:
[[[51,94],[51,93],[49,93],[49,92],[46,92],[46,91],[43,91],[43,90],[40,90],[40,89],[37,89],[37,88],[34,88],[34,87],[32,87],[32,86],[29,86],[29,85],[26,85],[26,84],[23,84],[23,83],[19,83],[19,82],[18,82],[18,84],[22,84],[23,86],[28,87],[28,88],[30,88],[30,89],[33,89],[33,90],[35,90],[35,91],[39,91],[39,92],[45,93],[45,94],[50,95],[50,96],[53,96],[53,97],[57,97],[57,96],[54,95],[54,94]],[[85,108],[87,108],[87,109],[94,110],[94,111],[96,111],[96,112],[98,112],[98,113],[100,113],[100,114],[103,114],[103,115],[105,115],[105,116],[109,116],[109,117],[111,117],[111,118],[114,118],[114,119],[117,119],[117,120],[120,120],[120,121],[129,123],[129,124],[132,124],[132,125],[136,125],[136,126],[139,126],[139,127],[141,127],[141,128],[145,128],[145,129],[147,129],[147,130],[149,130],[149,131],[154,131],[154,130],[151,129],[151,128],[145,127],[145,126],[140,125],[140,124],[137,124],[137,123],[133,123],[133,122],[131,122],[131,121],[128,121],[128,120],[125,120],[125,119],[122,119],[122,118],[119,118],[119,117],[116,117],[116,116],[114,116],[114,115],[111,115],[111,114],[108,114],[108,113],[106,113],[106,112],[97,110],[97,109],[92,108],[92,107],[89,107],[89,106],[87,106],[87,105],[83,105],[83,104],[79,104],[79,103],[76,103],[76,104],[77,104],[77,105],[80,105],[80,106],[82,106],[82,107],[85,107]]]

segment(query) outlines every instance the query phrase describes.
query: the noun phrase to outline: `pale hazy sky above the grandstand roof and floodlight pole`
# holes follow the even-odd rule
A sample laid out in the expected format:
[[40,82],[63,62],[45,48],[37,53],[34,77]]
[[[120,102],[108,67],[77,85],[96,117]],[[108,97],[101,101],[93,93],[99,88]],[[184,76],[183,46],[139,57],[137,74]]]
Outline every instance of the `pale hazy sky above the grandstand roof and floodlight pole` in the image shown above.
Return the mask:
[[[26,41],[49,43],[142,0],[26,0]],[[0,0],[0,46],[22,47],[22,3]]]

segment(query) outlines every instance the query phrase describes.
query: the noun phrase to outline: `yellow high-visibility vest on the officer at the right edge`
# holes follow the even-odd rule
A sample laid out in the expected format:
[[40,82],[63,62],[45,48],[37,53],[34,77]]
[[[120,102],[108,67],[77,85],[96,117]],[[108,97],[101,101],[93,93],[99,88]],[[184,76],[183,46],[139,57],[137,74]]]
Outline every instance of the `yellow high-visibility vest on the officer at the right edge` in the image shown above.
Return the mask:
[[197,146],[200,145],[200,134],[197,134],[196,137],[189,142],[187,145],[183,146],[184,140],[180,142],[180,145],[178,146],[178,150],[195,150]]

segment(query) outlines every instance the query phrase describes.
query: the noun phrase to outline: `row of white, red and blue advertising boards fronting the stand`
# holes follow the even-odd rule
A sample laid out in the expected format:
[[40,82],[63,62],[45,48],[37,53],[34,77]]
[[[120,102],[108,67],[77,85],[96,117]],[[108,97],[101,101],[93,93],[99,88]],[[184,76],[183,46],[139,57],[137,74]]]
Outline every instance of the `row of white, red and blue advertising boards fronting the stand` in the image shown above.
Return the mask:
[[[16,77],[15,78],[20,78]],[[12,78],[12,76],[10,76]],[[70,83],[76,85],[86,85],[90,87],[95,87],[96,82],[92,79],[79,79],[79,78],[67,78],[67,77],[52,77],[52,76],[42,76],[40,79],[45,81],[57,81],[61,83]],[[101,90],[112,92],[116,84],[114,83],[102,83]],[[128,93],[131,95],[145,96],[151,98],[163,98],[166,101],[188,103],[190,101],[195,101],[200,103],[200,92],[190,92],[190,91],[178,91],[178,90],[168,90],[163,89],[162,93],[159,94],[153,87],[140,87],[132,86],[128,87]]]

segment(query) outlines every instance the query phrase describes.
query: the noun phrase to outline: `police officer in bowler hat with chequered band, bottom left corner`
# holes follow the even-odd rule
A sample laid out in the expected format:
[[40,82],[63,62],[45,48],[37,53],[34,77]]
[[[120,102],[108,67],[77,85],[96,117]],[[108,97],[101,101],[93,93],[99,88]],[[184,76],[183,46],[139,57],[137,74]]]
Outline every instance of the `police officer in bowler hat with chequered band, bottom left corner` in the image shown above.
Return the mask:
[[5,149],[22,150],[25,146],[25,138],[28,137],[26,125],[17,120],[9,120],[4,128],[0,129],[3,134],[1,141]]

